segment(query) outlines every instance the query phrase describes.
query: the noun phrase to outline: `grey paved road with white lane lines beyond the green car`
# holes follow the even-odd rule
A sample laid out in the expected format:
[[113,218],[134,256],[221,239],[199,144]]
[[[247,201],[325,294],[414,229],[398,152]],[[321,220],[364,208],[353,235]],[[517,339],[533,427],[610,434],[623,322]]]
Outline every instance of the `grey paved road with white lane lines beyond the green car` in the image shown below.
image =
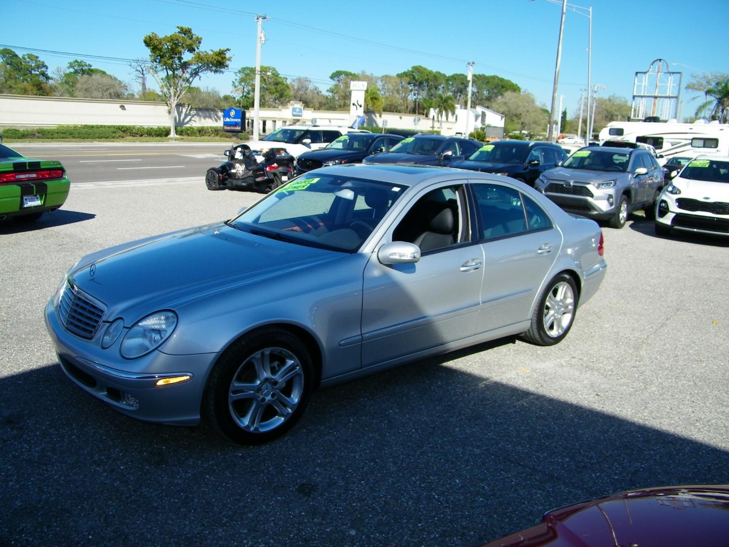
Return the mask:
[[74,184],[203,176],[225,160],[226,143],[9,144],[31,158],[61,160]]

